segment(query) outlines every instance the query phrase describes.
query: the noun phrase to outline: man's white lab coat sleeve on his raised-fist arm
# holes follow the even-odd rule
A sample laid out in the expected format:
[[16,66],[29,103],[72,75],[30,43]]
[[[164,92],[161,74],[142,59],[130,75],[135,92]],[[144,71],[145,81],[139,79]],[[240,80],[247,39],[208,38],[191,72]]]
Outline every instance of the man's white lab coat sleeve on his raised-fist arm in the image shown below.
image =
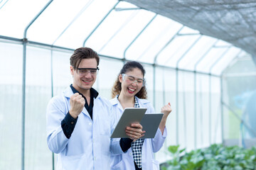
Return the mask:
[[47,143],[50,151],[55,154],[63,151],[68,144],[68,138],[65,137],[60,125],[68,113],[66,107],[65,99],[55,97],[50,100],[46,110]]

